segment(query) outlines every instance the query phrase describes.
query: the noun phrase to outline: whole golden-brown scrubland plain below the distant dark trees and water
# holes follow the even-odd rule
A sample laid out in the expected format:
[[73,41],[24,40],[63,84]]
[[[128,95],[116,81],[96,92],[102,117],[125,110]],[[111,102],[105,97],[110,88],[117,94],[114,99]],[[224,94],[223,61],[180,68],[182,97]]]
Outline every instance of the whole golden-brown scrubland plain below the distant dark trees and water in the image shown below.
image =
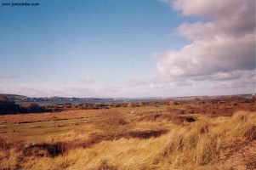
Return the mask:
[[255,108],[226,99],[0,116],[0,169],[255,169]]

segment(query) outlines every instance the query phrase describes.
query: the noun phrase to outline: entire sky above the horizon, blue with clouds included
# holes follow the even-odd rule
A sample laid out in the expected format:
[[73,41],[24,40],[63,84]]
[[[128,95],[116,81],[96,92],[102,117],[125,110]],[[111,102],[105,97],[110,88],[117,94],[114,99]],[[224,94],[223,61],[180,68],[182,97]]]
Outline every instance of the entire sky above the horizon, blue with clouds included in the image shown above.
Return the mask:
[[254,0],[26,2],[0,4],[0,94],[255,93]]

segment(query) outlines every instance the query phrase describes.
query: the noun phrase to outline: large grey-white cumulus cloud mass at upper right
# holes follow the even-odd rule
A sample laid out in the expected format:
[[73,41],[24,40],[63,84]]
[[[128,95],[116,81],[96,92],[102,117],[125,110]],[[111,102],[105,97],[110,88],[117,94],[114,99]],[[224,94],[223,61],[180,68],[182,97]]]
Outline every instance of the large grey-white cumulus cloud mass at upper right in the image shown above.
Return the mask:
[[[254,0],[164,0],[184,16],[207,21],[184,23],[179,36],[191,41],[178,51],[161,54],[157,69],[167,79],[255,79]],[[228,84],[225,82],[225,84]],[[254,84],[255,85],[255,84]]]

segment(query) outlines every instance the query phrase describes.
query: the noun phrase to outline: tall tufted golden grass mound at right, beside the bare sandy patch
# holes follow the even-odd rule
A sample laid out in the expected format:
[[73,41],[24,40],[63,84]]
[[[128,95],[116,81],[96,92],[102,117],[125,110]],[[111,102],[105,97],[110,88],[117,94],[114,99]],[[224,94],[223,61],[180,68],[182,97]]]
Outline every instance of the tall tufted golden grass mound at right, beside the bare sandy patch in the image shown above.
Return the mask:
[[182,127],[169,134],[163,155],[174,167],[219,163],[230,150],[254,139],[255,121],[254,113],[240,111],[225,122],[204,121]]

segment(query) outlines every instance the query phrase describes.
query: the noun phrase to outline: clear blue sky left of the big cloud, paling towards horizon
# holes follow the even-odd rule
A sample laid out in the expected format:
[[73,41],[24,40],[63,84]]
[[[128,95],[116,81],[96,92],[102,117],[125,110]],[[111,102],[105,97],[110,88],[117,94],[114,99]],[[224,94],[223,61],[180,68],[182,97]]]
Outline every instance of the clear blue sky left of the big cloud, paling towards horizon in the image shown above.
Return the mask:
[[[179,51],[191,42],[178,36],[177,28],[200,21],[201,16],[184,16],[157,0],[37,3],[39,7],[0,6],[0,93],[185,95],[173,87],[166,94],[166,88],[152,88],[152,83],[168,80],[157,68],[162,54]],[[192,92],[190,88],[185,91]]]

